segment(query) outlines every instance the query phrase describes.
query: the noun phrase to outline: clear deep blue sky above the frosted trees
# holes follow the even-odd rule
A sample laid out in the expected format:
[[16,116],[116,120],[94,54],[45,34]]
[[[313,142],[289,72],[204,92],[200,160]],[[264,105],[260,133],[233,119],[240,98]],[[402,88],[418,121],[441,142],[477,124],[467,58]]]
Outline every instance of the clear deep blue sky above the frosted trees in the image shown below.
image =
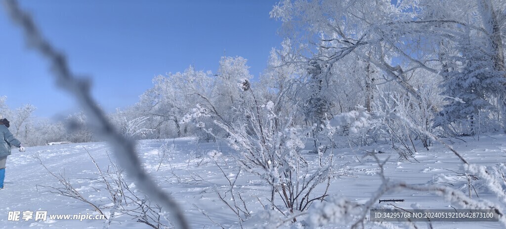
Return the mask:
[[[279,47],[276,1],[20,1],[41,32],[64,51],[74,73],[93,80],[106,112],[132,105],[168,72],[216,72],[220,58],[241,56],[250,73],[267,66]],[[54,85],[49,65],[27,46],[21,29],[0,11],[0,96],[11,108],[37,107],[35,116],[64,117],[78,109]]]

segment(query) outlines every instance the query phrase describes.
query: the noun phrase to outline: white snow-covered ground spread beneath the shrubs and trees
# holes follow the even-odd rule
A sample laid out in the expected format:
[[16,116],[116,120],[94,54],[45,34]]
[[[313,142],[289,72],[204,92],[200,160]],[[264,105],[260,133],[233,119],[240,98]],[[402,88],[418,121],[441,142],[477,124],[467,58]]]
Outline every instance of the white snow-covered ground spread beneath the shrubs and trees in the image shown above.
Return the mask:
[[[480,165],[494,165],[506,161],[506,135],[481,135],[480,139],[467,137],[461,139],[445,139],[452,144],[470,163]],[[175,145],[175,151],[170,156],[169,164],[165,160],[160,168],[159,148],[162,144]],[[0,228],[103,228],[105,220],[49,220],[9,221],[9,211],[47,211],[48,214],[96,214],[93,208],[81,201],[51,193],[52,189],[45,187],[61,187],[58,180],[52,176],[34,155],[38,154],[44,165],[53,173],[61,173],[71,182],[73,187],[86,199],[97,206],[110,206],[108,192],[103,184],[98,182],[97,169],[86,150],[103,171],[109,166],[107,155],[111,155],[106,143],[79,143],[52,146],[30,147],[25,153],[13,151],[8,158],[6,170],[5,190],[0,191]],[[218,150],[223,156],[218,158],[218,164],[231,179],[237,176],[237,166],[230,157],[234,152],[225,143],[197,143],[191,138],[176,140],[144,140],[139,143],[139,154],[145,164],[145,170],[159,182],[166,191],[172,193],[177,202],[183,207],[185,215],[192,228],[221,228],[237,227],[237,217],[218,198],[216,191],[224,192],[230,186],[228,180],[219,169],[215,160],[208,152]],[[13,149],[14,150],[14,149]],[[430,151],[418,146],[415,155],[419,162],[398,160],[398,155],[387,145],[374,147],[340,148],[334,150],[335,169],[348,169],[352,176],[338,177],[332,181],[329,194],[336,197],[346,197],[359,204],[365,203],[381,185],[378,177],[378,165],[374,158],[366,156],[362,150],[381,150],[386,153],[377,154],[380,159],[390,157],[385,165],[385,174],[390,179],[404,180],[408,184],[435,184],[451,186],[468,193],[467,179],[459,176],[462,163],[459,159],[440,144],[435,144]],[[310,163],[316,163],[315,154],[305,154]],[[157,171],[158,170],[158,171]],[[498,202],[497,198],[480,183],[472,181],[476,189],[472,191],[473,199],[487,199]],[[260,221],[256,212],[268,204],[270,190],[265,182],[252,174],[241,173],[236,182],[236,190],[241,192],[244,201],[254,212],[249,222],[243,223],[245,228],[258,228]],[[135,190],[135,185],[131,185]],[[315,193],[324,190],[319,187]],[[99,192],[99,190],[101,190]],[[412,209],[413,204],[421,209],[452,209],[451,204],[443,198],[427,192],[401,191],[384,195],[381,199],[404,199],[404,202],[391,203],[397,207]],[[260,202],[260,201],[262,202]],[[279,200],[279,198],[278,198]],[[376,204],[375,207],[386,206],[389,203]],[[200,210],[199,210],[200,209]],[[206,217],[201,211],[207,213]],[[106,210],[108,214],[108,210]],[[301,216],[300,219],[303,219]],[[258,225],[256,225],[258,224]],[[426,228],[424,222],[418,224]],[[342,225],[330,225],[328,228],[340,228]],[[115,217],[109,228],[150,228],[148,225],[132,220],[131,216]],[[370,223],[367,228],[376,228]],[[401,225],[401,228],[403,226]],[[434,222],[434,228],[502,228],[499,222]]]

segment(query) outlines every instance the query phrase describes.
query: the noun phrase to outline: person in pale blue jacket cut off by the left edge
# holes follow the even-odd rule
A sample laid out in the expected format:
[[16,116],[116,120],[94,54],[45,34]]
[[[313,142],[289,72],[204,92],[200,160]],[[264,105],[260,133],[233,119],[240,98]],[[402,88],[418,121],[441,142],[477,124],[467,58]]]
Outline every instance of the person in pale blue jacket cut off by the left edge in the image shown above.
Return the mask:
[[20,152],[25,151],[25,148],[21,146],[21,142],[14,138],[14,135],[9,131],[9,126],[7,118],[0,119],[0,134],[4,140],[0,140],[0,190],[4,189],[5,164],[7,156],[11,155],[11,146],[19,147]]

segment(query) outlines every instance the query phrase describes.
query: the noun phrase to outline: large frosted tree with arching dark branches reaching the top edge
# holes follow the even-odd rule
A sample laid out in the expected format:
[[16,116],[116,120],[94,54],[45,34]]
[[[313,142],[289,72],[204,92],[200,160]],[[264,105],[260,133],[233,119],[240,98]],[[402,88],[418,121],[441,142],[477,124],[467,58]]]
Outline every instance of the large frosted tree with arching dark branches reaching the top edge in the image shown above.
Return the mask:
[[[411,23],[403,22],[414,20],[418,11],[412,9],[416,4],[411,1],[397,4],[389,1],[281,1],[271,11],[271,16],[283,22],[283,35],[296,41],[297,45],[305,45],[306,49],[299,55],[306,57],[308,63],[315,60],[332,69],[326,78],[335,82],[346,81],[343,79],[347,77],[357,78],[349,81],[360,87],[348,84],[342,88],[348,89],[350,98],[358,97],[359,104],[367,103],[370,109],[374,102],[371,101],[372,90],[376,84],[385,81],[396,82],[421,103],[424,98],[413,85],[413,73],[438,72],[429,65],[433,57],[425,50],[416,55],[410,52],[422,38],[419,34],[410,36],[411,28],[408,27]],[[410,38],[415,39],[405,42]],[[362,67],[355,68],[357,65]],[[346,75],[352,72],[351,69],[354,69],[353,73]],[[384,76],[383,82],[371,77],[372,72]],[[374,82],[371,82],[372,78]],[[344,105],[340,107],[347,104]],[[435,106],[431,108],[437,110]]]

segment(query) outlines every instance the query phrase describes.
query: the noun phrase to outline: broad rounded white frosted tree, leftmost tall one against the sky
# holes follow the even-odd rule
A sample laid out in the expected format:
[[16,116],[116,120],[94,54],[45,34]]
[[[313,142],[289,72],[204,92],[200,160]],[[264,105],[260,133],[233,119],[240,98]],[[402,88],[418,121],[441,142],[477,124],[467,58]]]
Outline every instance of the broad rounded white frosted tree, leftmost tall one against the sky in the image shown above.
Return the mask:
[[193,127],[182,118],[195,104],[206,103],[206,99],[212,98],[213,83],[211,72],[196,71],[193,66],[183,72],[156,76],[153,87],[145,91],[127,113],[150,117],[145,125],[154,129],[155,138],[194,134]]

